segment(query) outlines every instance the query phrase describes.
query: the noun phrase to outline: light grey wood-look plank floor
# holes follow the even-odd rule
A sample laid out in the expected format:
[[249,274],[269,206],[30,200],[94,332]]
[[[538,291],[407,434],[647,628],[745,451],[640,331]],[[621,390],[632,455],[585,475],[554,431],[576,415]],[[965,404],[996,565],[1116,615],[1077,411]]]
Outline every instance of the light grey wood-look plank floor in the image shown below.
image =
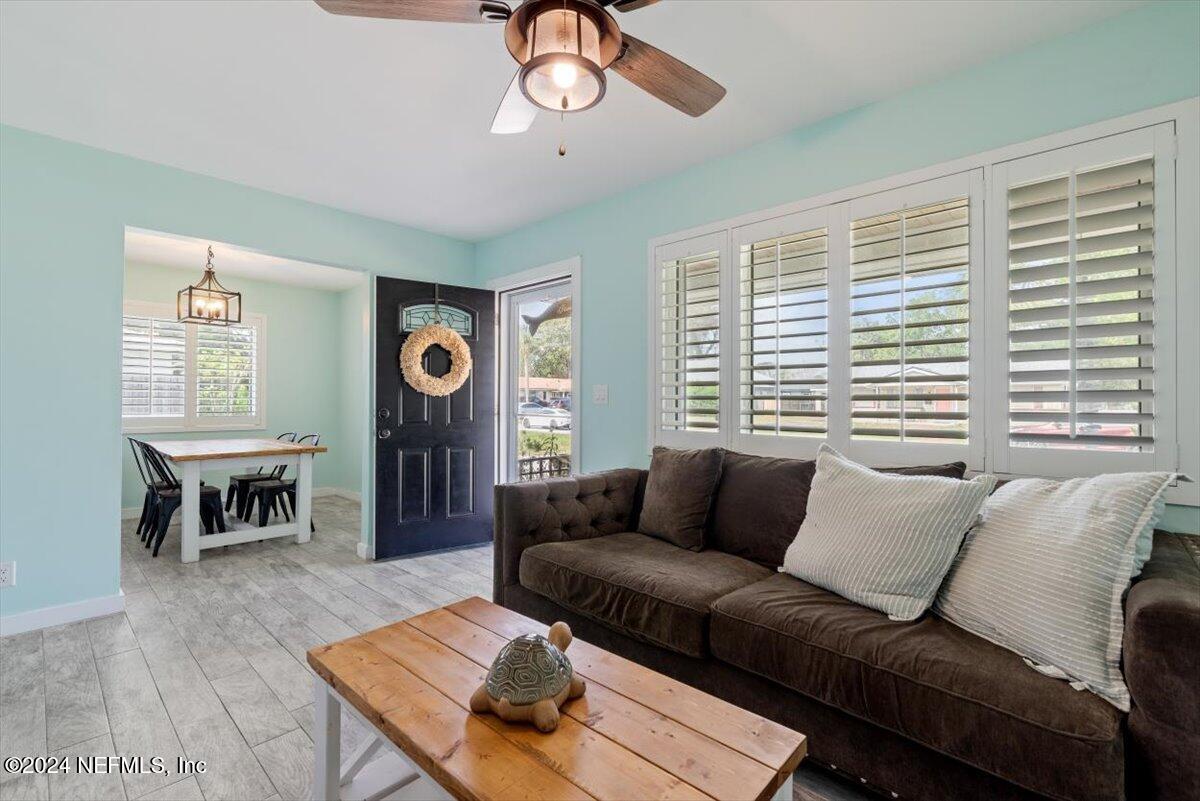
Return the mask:
[[[313,500],[318,531],[179,561],[122,526],[121,614],[0,639],[0,755],[162,757],[160,772],[0,773],[10,799],[308,799],[311,676],[305,651],[462,597],[492,595],[491,547],[390,562],[355,555],[359,506]],[[343,717],[343,749],[367,733]],[[176,758],[204,760],[203,772]],[[2,770],[2,769],[0,769]],[[816,769],[796,801],[860,799]]]

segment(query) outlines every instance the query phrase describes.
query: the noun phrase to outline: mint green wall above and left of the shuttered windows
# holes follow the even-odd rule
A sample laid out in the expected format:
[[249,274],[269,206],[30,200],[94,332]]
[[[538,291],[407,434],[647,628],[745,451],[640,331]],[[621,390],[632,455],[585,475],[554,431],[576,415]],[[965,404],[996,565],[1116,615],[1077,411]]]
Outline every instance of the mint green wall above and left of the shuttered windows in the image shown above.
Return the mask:
[[[1198,30],[1195,2],[1110,18],[480,242],[479,281],[582,257],[583,469],[646,464],[647,327],[619,309],[647,308],[648,240],[1194,97]],[[608,405],[590,403],[593,384],[608,385]],[[1169,523],[1200,530],[1195,510]]]

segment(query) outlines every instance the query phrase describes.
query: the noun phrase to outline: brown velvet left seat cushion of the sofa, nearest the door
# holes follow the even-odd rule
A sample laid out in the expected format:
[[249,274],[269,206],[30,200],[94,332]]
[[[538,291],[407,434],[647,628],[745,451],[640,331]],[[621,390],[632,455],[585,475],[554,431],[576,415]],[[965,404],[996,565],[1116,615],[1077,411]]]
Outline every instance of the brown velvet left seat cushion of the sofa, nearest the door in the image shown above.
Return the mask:
[[770,576],[719,550],[692,552],[641,534],[545,542],[521,554],[521,585],[618,632],[708,655],[709,606]]

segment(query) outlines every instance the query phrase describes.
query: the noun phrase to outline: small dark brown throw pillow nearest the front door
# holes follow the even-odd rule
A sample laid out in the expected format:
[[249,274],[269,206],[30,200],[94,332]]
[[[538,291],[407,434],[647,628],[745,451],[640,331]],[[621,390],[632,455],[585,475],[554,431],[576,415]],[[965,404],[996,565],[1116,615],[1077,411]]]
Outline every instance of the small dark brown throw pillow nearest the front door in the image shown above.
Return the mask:
[[703,548],[704,523],[724,458],[725,451],[719,447],[654,448],[637,530],[689,550]]

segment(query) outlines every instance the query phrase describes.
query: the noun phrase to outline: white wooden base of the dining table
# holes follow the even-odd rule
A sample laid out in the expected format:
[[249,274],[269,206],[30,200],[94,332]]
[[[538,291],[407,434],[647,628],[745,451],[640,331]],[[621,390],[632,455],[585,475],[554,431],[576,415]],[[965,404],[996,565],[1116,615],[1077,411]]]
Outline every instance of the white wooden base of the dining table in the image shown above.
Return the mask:
[[[296,456],[246,456],[228,459],[198,459],[176,463],[182,468],[181,480],[184,496],[180,506],[182,528],[180,561],[194,562],[200,559],[200,550],[235,546],[242,542],[271,540],[274,537],[295,536],[296,542],[308,542],[312,538],[310,522],[312,520],[312,453]],[[287,465],[296,477],[296,511],[290,523],[276,523],[263,528],[238,526],[234,523],[224,534],[200,536],[200,471],[224,470],[227,468],[272,468]],[[227,518],[228,519],[228,518]]]

